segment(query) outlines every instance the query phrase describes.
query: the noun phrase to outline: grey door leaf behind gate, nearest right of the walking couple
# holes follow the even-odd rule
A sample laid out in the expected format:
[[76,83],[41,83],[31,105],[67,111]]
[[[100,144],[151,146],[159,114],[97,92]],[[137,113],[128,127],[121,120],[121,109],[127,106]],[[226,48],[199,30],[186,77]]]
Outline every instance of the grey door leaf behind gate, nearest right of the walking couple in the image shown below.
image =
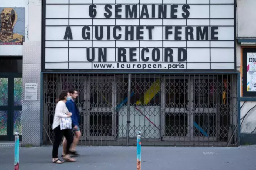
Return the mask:
[[87,140],[114,140],[116,136],[116,81],[114,77],[89,77]]

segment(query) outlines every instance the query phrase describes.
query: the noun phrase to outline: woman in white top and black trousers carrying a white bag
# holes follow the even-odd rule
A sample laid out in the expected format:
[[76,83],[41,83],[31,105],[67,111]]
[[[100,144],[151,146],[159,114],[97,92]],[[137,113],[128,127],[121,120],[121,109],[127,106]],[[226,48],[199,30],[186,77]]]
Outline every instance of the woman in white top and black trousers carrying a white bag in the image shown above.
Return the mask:
[[54,143],[53,143],[53,151],[52,151],[52,162],[53,163],[64,163],[64,161],[60,160],[58,158],[58,149],[59,145],[61,143],[63,135],[65,136],[67,140],[67,149],[66,154],[63,157],[63,159],[67,162],[74,162],[76,161],[70,156],[69,148],[73,142],[73,135],[72,135],[72,127],[71,127],[71,116],[72,113],[70,113],[66,107],[67,98],[70,97],[70,94],[68,91],[62,91],[59,98],[56,100],[57,105],[55,108],[55,114],[53,118],[53,125],[52,129],[54,131]]

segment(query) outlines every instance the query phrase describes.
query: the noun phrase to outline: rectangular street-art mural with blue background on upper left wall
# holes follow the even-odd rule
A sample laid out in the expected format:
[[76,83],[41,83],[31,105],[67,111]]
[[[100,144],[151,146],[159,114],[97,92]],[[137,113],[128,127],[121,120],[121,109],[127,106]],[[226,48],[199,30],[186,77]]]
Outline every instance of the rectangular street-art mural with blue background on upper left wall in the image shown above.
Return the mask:
[[25,8],[0,8],[0,45],[22,45],[24,36]]

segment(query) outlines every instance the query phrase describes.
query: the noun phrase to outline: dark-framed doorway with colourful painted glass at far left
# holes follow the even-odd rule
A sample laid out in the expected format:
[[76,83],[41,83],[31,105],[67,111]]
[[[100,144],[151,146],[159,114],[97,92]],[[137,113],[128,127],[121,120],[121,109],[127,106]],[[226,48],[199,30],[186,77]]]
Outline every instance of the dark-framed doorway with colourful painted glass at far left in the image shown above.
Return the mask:
[[22,58],[0,57],[0,141],[22,140]]

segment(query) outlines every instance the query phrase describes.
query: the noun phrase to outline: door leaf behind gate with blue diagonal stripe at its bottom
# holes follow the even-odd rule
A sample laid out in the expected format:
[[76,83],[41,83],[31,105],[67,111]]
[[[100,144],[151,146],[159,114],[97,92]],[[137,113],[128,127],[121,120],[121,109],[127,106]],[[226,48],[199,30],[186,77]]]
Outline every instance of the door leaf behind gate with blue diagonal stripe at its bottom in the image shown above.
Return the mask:
[[191,77],[191,141],[217,139],[216,77]]

